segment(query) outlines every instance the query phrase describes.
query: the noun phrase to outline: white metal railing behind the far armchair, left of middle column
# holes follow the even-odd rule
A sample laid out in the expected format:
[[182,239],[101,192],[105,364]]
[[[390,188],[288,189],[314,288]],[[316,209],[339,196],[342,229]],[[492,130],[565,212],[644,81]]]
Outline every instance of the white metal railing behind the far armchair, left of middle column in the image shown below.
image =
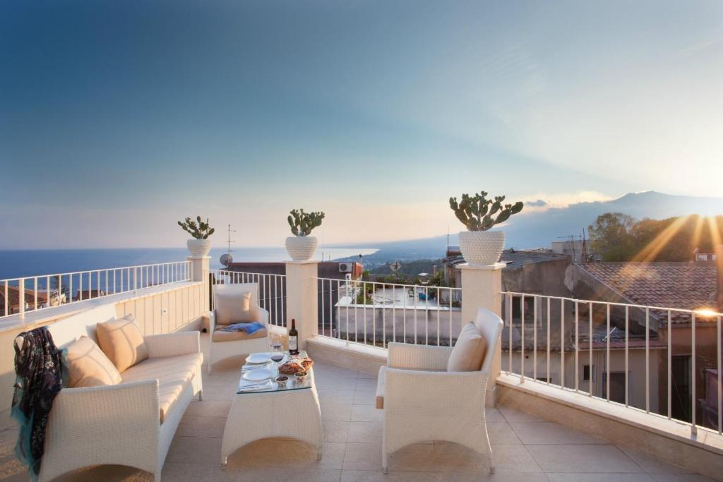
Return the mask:
[[[286,275],[228,270],[210,270],[210,274],[212,290],[213,285],[256,283],[256,299],[259,306],[269,312],[269,323],[286,326]],[[210,306],[214,309],[213,291]]]

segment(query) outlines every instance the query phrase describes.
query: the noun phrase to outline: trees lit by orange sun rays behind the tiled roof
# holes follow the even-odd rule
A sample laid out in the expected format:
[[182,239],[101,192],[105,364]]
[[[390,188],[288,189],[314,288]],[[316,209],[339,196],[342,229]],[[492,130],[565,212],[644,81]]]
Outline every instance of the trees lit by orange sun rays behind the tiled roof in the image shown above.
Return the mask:
[[690,261],[696,248],[714,251],[716,240],[723,238],[723,215],[635,220],[606,212],[589,231],[593,250],[604,261]]

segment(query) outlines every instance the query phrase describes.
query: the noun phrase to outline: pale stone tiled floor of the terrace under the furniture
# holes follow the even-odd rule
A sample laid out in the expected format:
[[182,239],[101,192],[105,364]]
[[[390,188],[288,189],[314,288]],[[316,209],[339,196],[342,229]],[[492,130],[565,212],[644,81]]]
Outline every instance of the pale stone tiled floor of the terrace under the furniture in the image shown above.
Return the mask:
[[[294,440],[261,440],[239,449],[221,470],[221,437],[238,377],[239,359],[215,365],[205,376],[203,401],[194,401],[179,426],[163,468],[164,481],[707,481],[630,449],[620,449],[501,406],[487,411],[497,473],[482,457],[456,444],[429,442],[401,449],[383,474],[382,411],[376,410],[374,376],[315,364],[324,423],[324,456]],[[205,373],[205,371],[204,371]],[[288,407],[288,410],[294,410]],[[0,481],[27,480],[14,460],[17,431],[0,432]],[[278,454],[285,454],[278,457]],[[131,468],[104,466],[67,481],[153,481]]]

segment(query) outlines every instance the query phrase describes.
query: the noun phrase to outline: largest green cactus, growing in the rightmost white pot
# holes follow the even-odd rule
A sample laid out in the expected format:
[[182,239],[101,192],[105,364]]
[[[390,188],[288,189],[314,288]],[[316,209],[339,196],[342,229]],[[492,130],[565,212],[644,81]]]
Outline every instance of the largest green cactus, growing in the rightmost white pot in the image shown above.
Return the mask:
[[[450,207],[457,219],[461,220],[469,231],[487,231],[495,224],[504,223],[511,215],[522,210],[521,201],[515,202],[514,205],[502,205],[504,200],[504,196],[495,196],[494,201],[487,199],[487,192],[482,191],[474,196],[462,194],[460,202],[457,202],[456,197],[450,197]],[[497,217],[493,218],[492,216],[495,214]]]

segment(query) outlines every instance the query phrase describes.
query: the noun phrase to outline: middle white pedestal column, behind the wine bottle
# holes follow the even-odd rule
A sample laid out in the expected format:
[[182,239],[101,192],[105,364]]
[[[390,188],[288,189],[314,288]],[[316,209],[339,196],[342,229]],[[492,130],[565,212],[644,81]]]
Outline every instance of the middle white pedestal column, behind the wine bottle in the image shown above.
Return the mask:
[[301,350],[317,334],[318,267],[315,260],[286,262],[286,327],[291,330],[291,319],[296,319]]

